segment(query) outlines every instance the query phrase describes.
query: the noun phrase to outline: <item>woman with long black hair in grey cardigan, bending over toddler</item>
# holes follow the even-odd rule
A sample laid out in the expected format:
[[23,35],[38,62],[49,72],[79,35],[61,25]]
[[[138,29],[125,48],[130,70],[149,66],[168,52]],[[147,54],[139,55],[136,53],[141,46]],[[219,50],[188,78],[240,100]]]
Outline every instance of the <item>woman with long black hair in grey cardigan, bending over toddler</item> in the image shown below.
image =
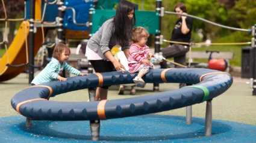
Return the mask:
[[[122,69],[125,69],[114,59],[110,50],[114,45],[119,44],[126,58],[129,57],[130,36],[133,26],[136,25],[134,10],[133,3],[120,1],[117,5],[116,16],[104,22],[87,42],[86,57],[92,63],[95,72],[123,72]],[[98,87],[95,100],[107,99],[108,88],[109,86]]]

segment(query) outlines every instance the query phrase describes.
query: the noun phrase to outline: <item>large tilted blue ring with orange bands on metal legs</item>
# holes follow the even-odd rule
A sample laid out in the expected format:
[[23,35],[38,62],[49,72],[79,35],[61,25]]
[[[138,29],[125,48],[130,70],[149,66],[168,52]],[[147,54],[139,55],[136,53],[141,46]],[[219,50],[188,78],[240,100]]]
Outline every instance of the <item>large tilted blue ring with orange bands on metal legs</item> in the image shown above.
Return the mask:
[[81,77],[67,78],[67,81],[49,81],[30,86],[13,96],[11,106],[27,117],[42,120],[90,120],[92,139],[99,140],[99,120],[151,114],[170,109],[187,107],[207,101],[205,114],[205,136],[211,136],[211,100],[233,83],[226,72],[212,69],[151,69],[145,75],[146,83],[192,83],[194,86],[169,92],[155,93],[136,98],[103,100],[95,102],[55,102],[49,98],[61,93],[89,89],[90,100],[95,99],[94,87],[133,83],[137,73],[105,72]]

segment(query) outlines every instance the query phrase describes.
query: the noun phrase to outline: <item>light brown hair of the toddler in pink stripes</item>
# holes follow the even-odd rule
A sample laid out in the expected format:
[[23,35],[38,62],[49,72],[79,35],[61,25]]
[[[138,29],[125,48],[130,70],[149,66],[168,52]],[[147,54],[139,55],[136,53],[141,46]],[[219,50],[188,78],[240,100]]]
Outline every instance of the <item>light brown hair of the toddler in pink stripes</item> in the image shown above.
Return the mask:
[[142,38],[148,38],[149,33],[145,28],[138,26],[133,30],[133,35],[131,36],[131,41],[139,42]]

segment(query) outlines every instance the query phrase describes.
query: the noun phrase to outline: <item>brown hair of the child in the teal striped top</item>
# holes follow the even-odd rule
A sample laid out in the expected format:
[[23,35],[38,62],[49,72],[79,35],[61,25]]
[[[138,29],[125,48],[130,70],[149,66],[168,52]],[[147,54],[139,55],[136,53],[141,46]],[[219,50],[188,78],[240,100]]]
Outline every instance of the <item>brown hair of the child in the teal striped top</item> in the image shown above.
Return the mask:
[[67,45],[65,45],[63,43],[58,43],[54,48],[52,57],[54,57],[55,59],[60,61],[61,53],[63,51],[65,51],[66,54],[70,54],[70,49],[69,49],[69,47],[67,47]]

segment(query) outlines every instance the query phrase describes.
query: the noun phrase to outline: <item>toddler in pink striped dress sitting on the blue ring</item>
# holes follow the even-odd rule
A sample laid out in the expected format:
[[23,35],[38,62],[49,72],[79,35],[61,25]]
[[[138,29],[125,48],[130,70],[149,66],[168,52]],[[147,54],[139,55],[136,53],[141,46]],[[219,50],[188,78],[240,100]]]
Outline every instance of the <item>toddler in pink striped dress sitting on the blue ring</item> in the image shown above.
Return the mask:
[[155,57],[146,44],[149,33],[145,28],[138,26],[134,29],[131,36],[131,47],[129,49],[128,66],[129,72],[139,71],[139,74],[133,79],[134,83],[145,85],[142,77],[148,73],[149,68],[154,69],[153,63],[148,60],[149,57]]

